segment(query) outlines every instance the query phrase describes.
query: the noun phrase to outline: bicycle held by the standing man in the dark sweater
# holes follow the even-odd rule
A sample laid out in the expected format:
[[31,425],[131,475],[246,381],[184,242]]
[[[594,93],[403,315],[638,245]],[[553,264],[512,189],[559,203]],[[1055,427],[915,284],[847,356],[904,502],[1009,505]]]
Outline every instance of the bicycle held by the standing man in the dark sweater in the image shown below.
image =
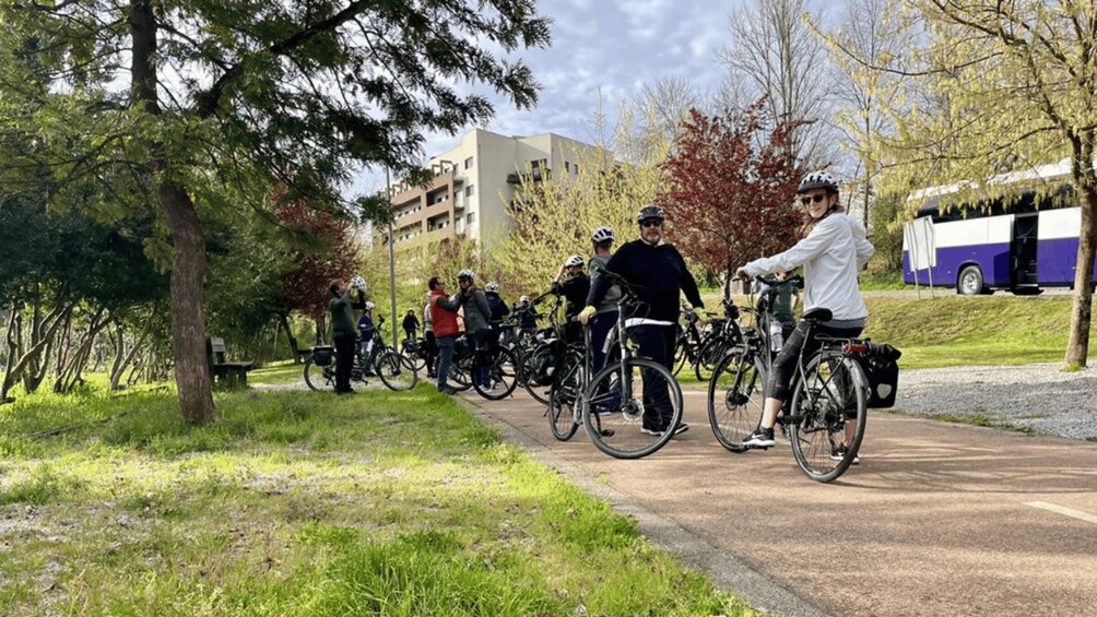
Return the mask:
[[[614,458],[642,458],[657,452],[675,436],[681,424],[682,391],[667,367],[634,354],[627,334],[638,325],[671,324],[638,317],[644,306],[629,283],[609,271],[603,271],[603,274],[612,277],[621,288],[618,322],[610,332],[607,344],[608,347],[615,345],[615,353],[607,358],[606,366],[586,381],[585,386],[585,376],[589,373],[575,370],[572,373],[574,377],[568,378],[567,364],[559,365],[557,370],[562,376],[558,382],[567,384],[568,379],[573,379],[570,385],[577,392],[584,386],[578,402],[572,402],[570,408],[574,414],[578,404],[583,425],[598,449]],[[588,338],[589,333],[585,335],[585,340]],[[589,354],[589,344],[586,346],[585,354]],[[573,361],[576,357],[575,354],[564,357],[568,356]],[[557,387],[556,391],[566,397],[566,388]],[[666,430],[649,430],[645,426],[645,421],[648,425],[656,422],[663,424],[654,398],[665,398],[665,404],[670,407]],[[567,402],[566,398],[559,401],[557,413]]]

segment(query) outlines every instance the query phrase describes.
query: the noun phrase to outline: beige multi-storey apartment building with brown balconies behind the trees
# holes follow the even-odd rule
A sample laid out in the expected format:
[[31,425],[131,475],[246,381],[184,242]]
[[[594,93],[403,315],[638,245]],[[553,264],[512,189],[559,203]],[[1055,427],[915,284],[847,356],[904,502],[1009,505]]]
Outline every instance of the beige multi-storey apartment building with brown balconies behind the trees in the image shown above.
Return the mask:
[[[578,174],[583,152],[593,146],[552,133],[532,137],[474,129],[455,148],[430,159],[434,176],[427,186],[397,182],[391,187],[396,209],[396,248],[466,235],[490,245],[509,232],[507,208],[522,174],[534,181],[550,173]],[[588,158],[589,160],[589,158]],[[383,243],[387,229],[374,230]]]

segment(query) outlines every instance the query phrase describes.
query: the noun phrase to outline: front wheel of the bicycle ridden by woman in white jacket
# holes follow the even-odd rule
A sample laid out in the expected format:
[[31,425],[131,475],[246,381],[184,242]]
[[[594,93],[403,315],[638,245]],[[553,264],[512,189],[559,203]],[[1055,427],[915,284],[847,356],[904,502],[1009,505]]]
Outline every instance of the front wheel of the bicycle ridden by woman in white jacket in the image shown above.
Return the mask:
[[758,420],[766,398],[766,369],[743,345],[732,347],[709,380],[709,424],[720,445],[734,453],[744,445]]

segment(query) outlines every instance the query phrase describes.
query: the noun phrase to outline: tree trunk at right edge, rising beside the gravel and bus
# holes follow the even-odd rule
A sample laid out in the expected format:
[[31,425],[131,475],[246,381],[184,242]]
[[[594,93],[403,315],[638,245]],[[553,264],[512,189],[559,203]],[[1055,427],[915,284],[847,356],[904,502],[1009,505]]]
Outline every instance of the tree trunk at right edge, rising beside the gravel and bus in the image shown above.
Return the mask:
[[[1090,168],[1092,169],[1092,168]],[[1089,328],[1093,323],[1094,252],[1097,249],[1097,185],[1082,185],[1082,227],[1078,229],[1078,255],[1074,270],[1074,301],[1071,304],[1071,331],[1063,362],[1085,367],[1089,355]]]

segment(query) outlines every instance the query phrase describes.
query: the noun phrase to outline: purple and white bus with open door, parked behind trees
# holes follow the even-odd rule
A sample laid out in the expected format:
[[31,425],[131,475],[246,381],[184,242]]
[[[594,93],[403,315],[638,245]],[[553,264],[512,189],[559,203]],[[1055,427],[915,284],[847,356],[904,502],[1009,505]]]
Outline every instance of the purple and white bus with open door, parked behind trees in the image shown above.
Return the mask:
[[1082,209],[1070,205],[1077,198],[1067,185],[1039,204],[1034,192],[1008,206],[946,198],[929,198],[903,227],[904,283],[954,286],[964,295],[1034,295],[1074,284]]

